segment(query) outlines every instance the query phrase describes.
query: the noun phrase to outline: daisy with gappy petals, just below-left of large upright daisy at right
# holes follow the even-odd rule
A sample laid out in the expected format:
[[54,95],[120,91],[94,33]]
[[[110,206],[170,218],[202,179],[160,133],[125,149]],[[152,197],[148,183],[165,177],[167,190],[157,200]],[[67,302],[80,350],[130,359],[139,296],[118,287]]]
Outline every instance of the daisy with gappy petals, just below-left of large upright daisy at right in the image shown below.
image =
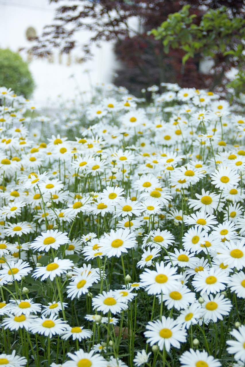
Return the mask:
[[220,196],[202,189],[202,195],[195,194],[197,199],[189,199],[189,207],[194,210],[200,209],[208,214],[213,214],[214,210],[221,211],[224,203],[220,201]]

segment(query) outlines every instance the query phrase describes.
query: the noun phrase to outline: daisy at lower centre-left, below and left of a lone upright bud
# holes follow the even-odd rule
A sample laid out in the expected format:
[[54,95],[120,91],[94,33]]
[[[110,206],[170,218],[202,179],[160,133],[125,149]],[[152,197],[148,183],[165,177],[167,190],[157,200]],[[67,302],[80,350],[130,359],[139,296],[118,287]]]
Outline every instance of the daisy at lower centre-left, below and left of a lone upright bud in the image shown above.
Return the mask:
[[109,292],[103,291],[103,294],[92,298],[92,306],[93,309],[102,311],[104,314],[110,311],[113,315],[128,308],[127,304],[117,300],[116,294],[112,290]]

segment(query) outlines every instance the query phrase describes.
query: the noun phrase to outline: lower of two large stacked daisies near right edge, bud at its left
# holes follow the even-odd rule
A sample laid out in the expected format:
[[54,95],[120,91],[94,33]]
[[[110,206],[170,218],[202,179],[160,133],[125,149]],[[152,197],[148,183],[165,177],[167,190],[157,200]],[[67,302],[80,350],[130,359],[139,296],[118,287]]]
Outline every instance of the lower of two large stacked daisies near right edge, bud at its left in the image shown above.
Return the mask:
[[230,299],[224,298],[223,294],[217,293],[215,297],[206,293],[202,294],[204,303],[202,304],[202,317],[205,324],[209,321],[217,322],[223,320],[223,315],[229,315],[232,308]]

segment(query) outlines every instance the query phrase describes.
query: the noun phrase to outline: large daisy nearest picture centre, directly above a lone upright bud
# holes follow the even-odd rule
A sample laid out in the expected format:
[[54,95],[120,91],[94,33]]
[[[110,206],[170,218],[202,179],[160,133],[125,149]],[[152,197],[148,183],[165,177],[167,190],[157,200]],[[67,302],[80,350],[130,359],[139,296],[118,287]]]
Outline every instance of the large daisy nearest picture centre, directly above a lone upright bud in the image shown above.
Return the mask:
[[107,257],[120,257],[123,252],[128,252],[129,248],[136,245],[136,239],[129,229],[111,229],[109,235],[104,233],[104,238],[100,240],[100,246]]

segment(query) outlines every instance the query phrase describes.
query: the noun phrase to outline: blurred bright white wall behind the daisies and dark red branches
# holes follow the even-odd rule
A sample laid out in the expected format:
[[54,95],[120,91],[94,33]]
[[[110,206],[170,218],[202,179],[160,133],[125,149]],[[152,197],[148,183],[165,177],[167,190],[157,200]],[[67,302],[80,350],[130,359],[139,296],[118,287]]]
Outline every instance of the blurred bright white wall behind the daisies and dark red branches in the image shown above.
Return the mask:
[[[0,0],[0,48],[17,52],[21,47],[30,47],[32,42],[26,40],[26,29],[32,26],[40,35],[43,26],[52,24],[56,7],[57,4],[49,4],[48,0]],[[75,37],[79,44],[83,44],[88,40],[89,33],[79,32]],[[29,69],[36,83],[35,102],[41,106],[52,105],[57,95],[72,99],[78,94],[78,88],[89,91],[86,69],[90,70],[93,84],[109,83],[118,66],[112,48],[111,42],[102,43],[101,48],[93,47],[92,61],[82,64],[75,62],[82,55],[77,48],[71,53],[69,66],[68,55],[62,55],[60,63],[57,52],[53,63],[47,59],[32,59]],[[24,52],[21,56],[26,59]],[[74,77],[71,78],[71,75]]]

